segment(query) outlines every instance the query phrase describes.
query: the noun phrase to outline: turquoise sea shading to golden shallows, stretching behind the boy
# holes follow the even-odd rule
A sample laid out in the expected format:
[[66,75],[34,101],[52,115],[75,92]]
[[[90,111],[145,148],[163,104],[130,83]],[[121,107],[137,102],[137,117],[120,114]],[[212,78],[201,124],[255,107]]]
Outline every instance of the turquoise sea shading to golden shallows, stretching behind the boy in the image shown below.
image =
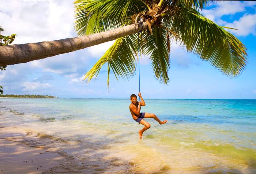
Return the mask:
[[[48,173],[256,173],[256,100],[0,99],[0,133],[65,157]],[[63,170],[63,166],[66,166]]]

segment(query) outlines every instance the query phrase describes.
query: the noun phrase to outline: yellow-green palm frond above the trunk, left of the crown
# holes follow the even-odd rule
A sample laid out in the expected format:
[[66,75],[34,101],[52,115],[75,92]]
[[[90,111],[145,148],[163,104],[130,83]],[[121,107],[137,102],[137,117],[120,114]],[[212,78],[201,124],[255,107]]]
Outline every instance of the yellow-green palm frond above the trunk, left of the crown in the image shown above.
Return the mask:
[[134,14],[147,7],[139,0],[76,0],[75,30],[94,34],[130,24]]

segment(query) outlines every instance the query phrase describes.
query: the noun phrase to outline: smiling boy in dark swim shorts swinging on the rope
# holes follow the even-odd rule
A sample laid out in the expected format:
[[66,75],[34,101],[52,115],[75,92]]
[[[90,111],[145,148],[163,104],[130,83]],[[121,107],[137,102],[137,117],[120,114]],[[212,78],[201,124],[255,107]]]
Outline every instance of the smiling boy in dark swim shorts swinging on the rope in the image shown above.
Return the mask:
[[131,95],[132,103],[130,104],[129,109],[131,111],[133,120],[144,125],[144,128],[139,131],[139,137],[140,137],[140,139],[142,139],[143,132],[150,128],[150,124],[148,122],[146,122],[145,120],[143,120],[143,118],[154,118],[156,121],[159,122],[159,124],[165,124],[167,122],[167,120],[161,121],[161,120],[159,120],[159,118],[157,118],[157,116],[155,116],[155,114],[144,113],[144,112],[140,113],[140,106],[146,106],[146,104],[145,104],[143,98],[141,97],[140,92],[138,95],[142,102],[138,102],[137,96],[135,94],[132,94]]

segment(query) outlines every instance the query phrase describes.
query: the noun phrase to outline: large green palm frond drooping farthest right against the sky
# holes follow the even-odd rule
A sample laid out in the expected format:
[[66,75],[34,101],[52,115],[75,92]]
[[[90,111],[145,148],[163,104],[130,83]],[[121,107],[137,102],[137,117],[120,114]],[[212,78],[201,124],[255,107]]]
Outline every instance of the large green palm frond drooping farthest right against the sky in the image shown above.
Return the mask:
[[189,52],[209,61],[223,74],[236,77],[245,69],[247,54],[242,42],[196,10],[182,9],[173,18],[172,30],[180,35]]

